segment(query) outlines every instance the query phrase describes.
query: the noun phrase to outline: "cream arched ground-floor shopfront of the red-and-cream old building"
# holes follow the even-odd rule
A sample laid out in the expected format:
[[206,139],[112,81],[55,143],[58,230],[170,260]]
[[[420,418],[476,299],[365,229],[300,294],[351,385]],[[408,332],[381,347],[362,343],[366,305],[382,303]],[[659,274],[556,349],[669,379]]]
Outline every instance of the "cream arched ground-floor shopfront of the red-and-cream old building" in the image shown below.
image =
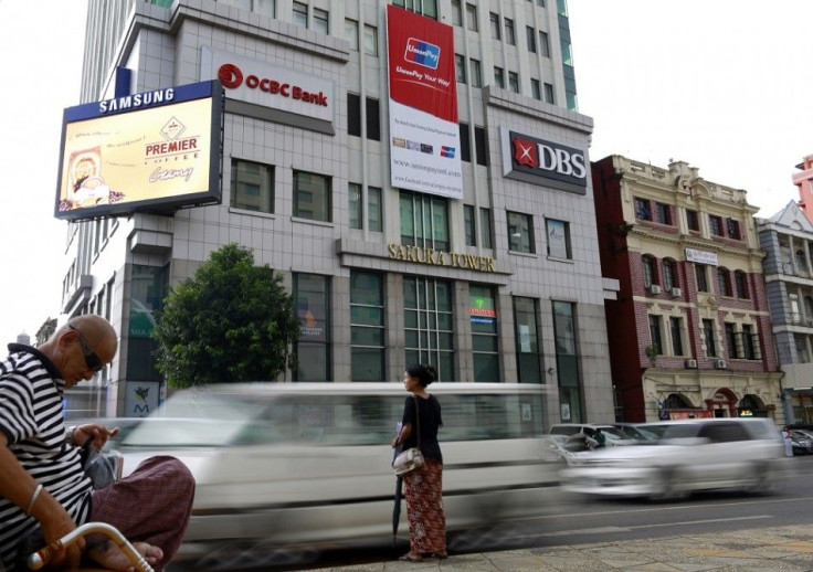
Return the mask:
[[[699,371],[699,370],[698,370]],[[679,374],[646,370],[646,421],[700,417],[769,417],[784,425],[781,373]]]

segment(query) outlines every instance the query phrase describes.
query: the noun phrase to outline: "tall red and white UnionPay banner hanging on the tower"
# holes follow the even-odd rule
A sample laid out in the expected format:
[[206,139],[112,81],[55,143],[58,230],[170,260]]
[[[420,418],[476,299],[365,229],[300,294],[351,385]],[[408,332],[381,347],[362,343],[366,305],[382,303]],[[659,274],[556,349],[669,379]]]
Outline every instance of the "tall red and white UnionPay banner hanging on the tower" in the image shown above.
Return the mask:
[[452,27],[389,4],[387,46],[392,186],[462,199]]

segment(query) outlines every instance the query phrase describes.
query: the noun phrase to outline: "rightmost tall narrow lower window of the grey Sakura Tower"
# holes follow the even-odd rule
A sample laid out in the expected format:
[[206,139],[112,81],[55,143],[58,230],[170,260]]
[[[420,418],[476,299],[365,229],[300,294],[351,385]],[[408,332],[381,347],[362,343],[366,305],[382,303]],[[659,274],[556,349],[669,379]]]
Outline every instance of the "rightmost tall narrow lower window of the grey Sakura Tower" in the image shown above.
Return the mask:
[[559,413],[562,423],[578,423],[583,421],[583,416],[581,413],[581,374],[577,352],[579,343],[576,337],[576,305],[557,300],[553,300],[552,305]]

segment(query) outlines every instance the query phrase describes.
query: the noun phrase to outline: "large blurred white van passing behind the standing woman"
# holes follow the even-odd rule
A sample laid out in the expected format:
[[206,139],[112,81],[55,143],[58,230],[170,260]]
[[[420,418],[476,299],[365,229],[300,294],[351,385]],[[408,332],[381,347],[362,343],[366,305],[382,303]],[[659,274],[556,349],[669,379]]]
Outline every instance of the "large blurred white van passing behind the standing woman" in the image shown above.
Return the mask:
[[[558,490],[556,464],[539,448],[547,390],[508,383],[430,389],[443,407],[447,530],[543,513]],[[192,518],[179,558],[390,542],[390,442],[406,399],[401,383],[186,390],[136,425],[118,449],[125,474],[147,456],[167,454],[194,475]]]

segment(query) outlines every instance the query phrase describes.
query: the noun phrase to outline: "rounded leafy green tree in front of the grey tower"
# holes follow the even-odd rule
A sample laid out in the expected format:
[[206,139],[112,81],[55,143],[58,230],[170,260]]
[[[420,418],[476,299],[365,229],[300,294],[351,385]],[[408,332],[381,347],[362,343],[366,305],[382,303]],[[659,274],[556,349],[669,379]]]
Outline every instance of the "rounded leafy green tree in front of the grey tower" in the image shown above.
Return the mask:
[[288,348],[299,321],[282,282],[232,243],[170,290],[155,329],[157,368],[169,386],[273,381],[296,367]]

